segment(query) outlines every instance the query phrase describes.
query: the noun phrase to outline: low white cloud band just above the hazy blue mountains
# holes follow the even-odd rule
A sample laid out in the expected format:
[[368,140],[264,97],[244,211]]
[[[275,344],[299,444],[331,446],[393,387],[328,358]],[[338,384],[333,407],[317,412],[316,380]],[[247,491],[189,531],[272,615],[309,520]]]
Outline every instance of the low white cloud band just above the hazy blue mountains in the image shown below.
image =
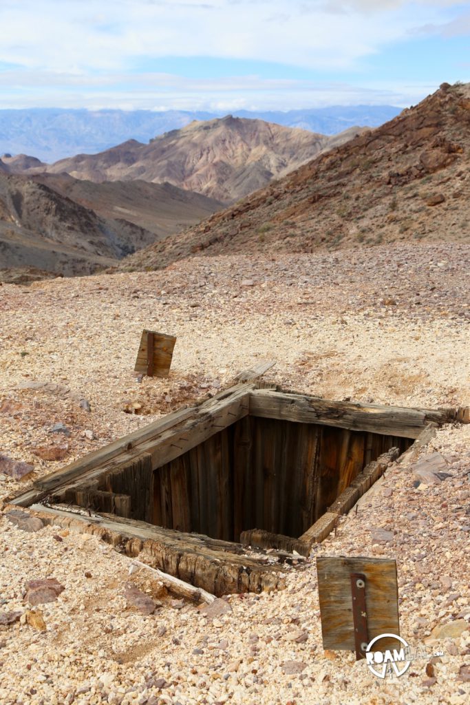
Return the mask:
[[[267,80],[256,76],[220,79],[187,79],[164,73],[145,73],[132,78],[127,74],[103,74],[89,80],[75,73],[0,74],[2,106],[18,106],[15,88],[21,82],[24,96],[21,107],[61,106],[89,109],[180,109],[235,111],[276,110],[321,107],[332,104],[415,104],[437,86],[392,82],[355,86],[346,82],[308,80]],[[44,92],[44,85],[49,87]],[[124,87],[123,87],[124,86]],[[106,91],[106,92],[105,92]]]

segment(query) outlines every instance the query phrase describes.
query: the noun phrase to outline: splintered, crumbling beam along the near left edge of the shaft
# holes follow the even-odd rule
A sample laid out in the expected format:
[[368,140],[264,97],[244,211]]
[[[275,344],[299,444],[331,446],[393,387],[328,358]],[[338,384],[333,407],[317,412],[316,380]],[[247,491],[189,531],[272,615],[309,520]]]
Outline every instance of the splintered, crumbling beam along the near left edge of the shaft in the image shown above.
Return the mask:
[[132,558],[142,553],[156,568],[218,597],[285,586],[287,568],[283,563],[273,563],[272,556],[249,556],[240,544],[123,517],[90,517],[79,507],[70,509],[73,511],[35,504],[29,512],[49,525],[93,534]]

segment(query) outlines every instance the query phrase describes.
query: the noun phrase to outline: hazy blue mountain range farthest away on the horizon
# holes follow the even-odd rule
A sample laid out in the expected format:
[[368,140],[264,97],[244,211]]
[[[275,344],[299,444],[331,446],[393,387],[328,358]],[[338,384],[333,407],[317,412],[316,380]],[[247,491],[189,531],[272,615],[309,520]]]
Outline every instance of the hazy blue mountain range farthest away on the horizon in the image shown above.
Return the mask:
[[[334,135],[354,125],[381,125],[400,111],[390,105],[357,105],[287,112],[239,111],[233,115]],[[149,142],[193,120],[206,121],[222,116],[223,113],[175,110],[0,110],[0,157],[2,154],[31,154],[51,163],[72,154],[102,152],[130,139]]]

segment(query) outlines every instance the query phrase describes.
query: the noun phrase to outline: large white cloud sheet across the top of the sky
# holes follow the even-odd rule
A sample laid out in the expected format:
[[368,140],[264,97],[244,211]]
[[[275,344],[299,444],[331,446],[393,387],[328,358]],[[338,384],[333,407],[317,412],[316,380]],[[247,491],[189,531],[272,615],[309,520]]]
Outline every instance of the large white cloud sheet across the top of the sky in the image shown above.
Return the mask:
[[344,68],[414,27],[452,20],[441,14],[452,5],[457,6],[452,0],[2,1],[0,61],[89,72],[119,71],[148,57],[221,56]]

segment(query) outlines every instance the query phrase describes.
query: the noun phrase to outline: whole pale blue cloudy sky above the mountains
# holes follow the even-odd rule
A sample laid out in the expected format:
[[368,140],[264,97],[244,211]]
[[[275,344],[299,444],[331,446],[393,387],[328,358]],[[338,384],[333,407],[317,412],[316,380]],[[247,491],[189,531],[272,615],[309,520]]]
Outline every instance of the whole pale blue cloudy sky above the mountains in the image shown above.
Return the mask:
[[0,0],[2,108],[406,106],[470,80],[453,0]]

